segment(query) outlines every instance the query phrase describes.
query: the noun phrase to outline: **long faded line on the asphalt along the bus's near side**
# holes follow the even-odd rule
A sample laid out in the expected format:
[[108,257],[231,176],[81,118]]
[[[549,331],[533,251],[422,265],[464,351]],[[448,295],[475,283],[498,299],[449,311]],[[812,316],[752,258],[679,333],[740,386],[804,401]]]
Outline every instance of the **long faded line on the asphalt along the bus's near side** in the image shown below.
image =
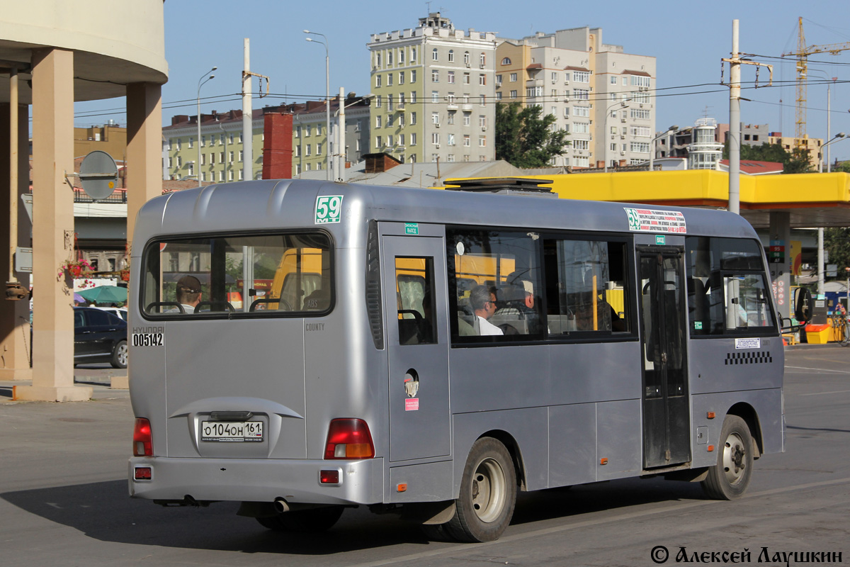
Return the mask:
[[[794,486],[785,486],[783,488],[774,488],[770,490],[762,490],[760,492],[753,492],[752,494],[747,494],[743,498],[757,498],[759,496],[774,496],[775,494],[784,494],[785,492],[793,492],[795,490],[805,490],[808,488],[820,488],[822,486],[831,486],[831,485],[845,485],[850,483],[850,478],[845,479],[832,479],[832,480],[821,480],[820,482],[811,482],[805,485],[794,485]],[[675,504],[673,506],[665,506],[659,508],[654,508],[652,510],[641,510],[638,512],[632,513],[622,513],[614,518],[599,518],[599,519],[588,519],[583,522],[576,522],[575,524],[569,525],[559,525],[554,526],[552,528],[543,528],[541,530],[533,530],[526,532],[524,534],[517,534],[515,536],[506,536],[502,537],[496,541],[488,541],[486,543],[463,543],[458,545],[451,545],[451,547],[444,547],[442,549],[435,549],[433,551],[421,552],[421,553],[411,553],[410,555],[403,555],[401,557],[396,558],[387,558],[380,559],[378,561],[370,561],[369,563],[358,563],[354,565],[349,565],[348,567],[382,567],[382,565],[392,565],[399,563],[406,563],[409,561],[418,561],[423,558],[436,557],[438,555],[450,555],[451,553],[456,553],[458,555],[465,555],[467,550],[473,551],[477,550],[479,547],[484,546],[495,546],[500,543],[511,543],[513,541],[522,541],[527,540],[532,537],[538,536],[548,536],[550,534],[557,534],[563,531],[576,530],[579,528],[587,528],[592,525],[599,524],[608,524],[609,522],[618,522],[624,519],[637,519],[643,518],[645,516],[651,516],[656,513],[671,513],[677,512],[679,510],[684,510],[690,507],[700,507],[707,506],[709,504],[720,504],[721,500],[698,500],[694,502],[682,502],[679,504]]]

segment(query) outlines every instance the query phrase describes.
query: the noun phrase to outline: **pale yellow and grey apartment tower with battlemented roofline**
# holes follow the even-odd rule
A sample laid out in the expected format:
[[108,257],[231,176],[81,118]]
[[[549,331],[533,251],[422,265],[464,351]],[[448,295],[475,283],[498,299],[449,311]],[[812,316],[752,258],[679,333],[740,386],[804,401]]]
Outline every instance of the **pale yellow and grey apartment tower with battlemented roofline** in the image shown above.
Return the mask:
[[439,12],[372,34],[371,149],[400,162],[496,158],[496,34],[456,30]]

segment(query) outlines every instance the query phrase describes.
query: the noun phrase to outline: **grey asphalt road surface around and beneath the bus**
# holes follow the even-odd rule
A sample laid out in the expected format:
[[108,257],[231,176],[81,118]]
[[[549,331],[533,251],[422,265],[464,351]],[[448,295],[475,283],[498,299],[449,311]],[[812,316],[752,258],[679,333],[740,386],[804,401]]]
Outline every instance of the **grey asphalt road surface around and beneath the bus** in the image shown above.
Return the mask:
[[92,379],[97,399],[68,404],[16,403],[0,392],[0,564],[637,566],[657,564],[650,554],[663,558],[660,547],[665,564],[682,548],[692,563],[694,553],[723,563],[723,553],[745,550],[726,562],[786,564],[776,553],[814,552],[850,563],[850,349],[794,347],[785,364],[786,452],[756,462],[739,501],[706,500],[698,484],[660,479],[523,493],[501,540],[476,545],[428,541],[416,526],[362,508],[304,536],[264,530],[235,516],[232,503],[131,500],[126,390]]

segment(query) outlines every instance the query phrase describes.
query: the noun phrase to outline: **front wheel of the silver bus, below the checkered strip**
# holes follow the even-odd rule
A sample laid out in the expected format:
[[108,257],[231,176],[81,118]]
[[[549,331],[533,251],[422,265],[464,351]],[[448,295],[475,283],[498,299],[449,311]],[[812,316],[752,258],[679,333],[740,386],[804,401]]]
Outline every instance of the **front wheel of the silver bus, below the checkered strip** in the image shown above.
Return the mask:
[[702,481],[706,495],[716,500],[733,500],[744,494],[752,476],[752,435],[746,422],[727,416],[720,432],[717,464]]

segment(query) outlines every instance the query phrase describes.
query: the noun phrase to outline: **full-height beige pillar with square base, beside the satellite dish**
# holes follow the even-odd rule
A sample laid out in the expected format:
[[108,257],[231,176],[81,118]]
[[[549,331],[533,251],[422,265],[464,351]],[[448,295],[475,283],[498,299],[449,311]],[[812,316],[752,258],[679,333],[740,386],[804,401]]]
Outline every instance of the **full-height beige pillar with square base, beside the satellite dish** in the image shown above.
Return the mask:
[[74,54],[32,52],[32,385],[16,400],[76,401],[92,388],[74,386],[73,287],[58,277],[74,254]]

